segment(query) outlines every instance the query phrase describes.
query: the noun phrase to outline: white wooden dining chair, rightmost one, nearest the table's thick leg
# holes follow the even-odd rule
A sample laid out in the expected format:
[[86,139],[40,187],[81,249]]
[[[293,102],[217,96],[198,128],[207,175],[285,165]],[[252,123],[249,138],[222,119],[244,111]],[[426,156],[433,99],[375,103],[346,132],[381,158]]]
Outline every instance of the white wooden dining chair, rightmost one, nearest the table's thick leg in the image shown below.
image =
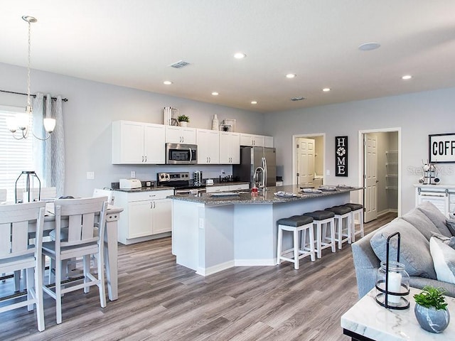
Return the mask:
[[[55,241],[43,243],[42,263],[45,256],[55,264],[55,287],[44,286],[43,290],[55,299],[57,323],[62,323],[62,296],[70,291],[84,289],[88,293],[90,286],[97,286],[100,291],[100,305],[106,306],[104,247],[102,236],[105,232],[107,197],[89,197],[81,199],[55,200]],[[99,232],[95,229],[95,216],[99,215]],[[63,227],[66,221],[68,227]],[[101,237],[100,237],[101,236]],[[97,255],[97,274],[90,268],[90,256]],[[62,283],[62,274],[67,261],[82,257],[82,278],[76,282]],[[65,272],[63,272],[65,271]]]

